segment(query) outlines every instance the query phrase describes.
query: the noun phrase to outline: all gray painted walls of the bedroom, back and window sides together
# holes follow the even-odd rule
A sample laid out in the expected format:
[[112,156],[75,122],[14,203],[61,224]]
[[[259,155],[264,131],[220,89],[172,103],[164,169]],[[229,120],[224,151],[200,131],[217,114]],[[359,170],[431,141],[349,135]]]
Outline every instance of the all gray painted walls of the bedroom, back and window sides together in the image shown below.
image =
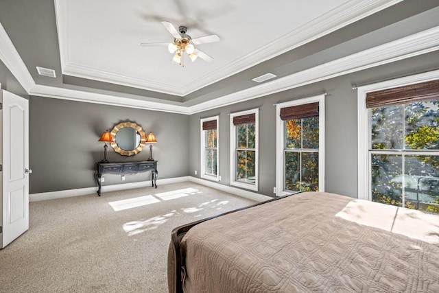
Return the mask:
[[[102,159],[102,131],[121,121],[135,121],[145,132],[153,131],[158,143],[159,178],[200,176],[200,118],[219,115],[219,174],[229,184],[230,112],[259,107],[259,194],[273,196],[276,171],[276,110],[273,104],[327,91],[325,189],[357,196],[357,95],[352,84],[368,84],[439,68],[439,52],[382,65],[340,78],[302,86],[204,113],[178,115],[150,110],[73,102],[45,97],[29,101],[29,165],[31,194],[95,187],[95,162]],[[12,73],[0,62],[2,89],[28,97]],[[140,161],[149,156],[146,148],[126,157],[108,148],[110,161]],[[124,183],[145,180],[146,174],[126,176]],[[104,185],[121,183],[120,176],[106,176]]]

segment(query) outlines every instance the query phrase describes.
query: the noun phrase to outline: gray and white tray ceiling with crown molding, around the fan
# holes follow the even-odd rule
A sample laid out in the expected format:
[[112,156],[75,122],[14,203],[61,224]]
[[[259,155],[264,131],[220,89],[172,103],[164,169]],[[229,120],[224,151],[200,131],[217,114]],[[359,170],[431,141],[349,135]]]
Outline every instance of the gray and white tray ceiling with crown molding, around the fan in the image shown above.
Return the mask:
[[[436,0],[3,0],[0,58],[29,95],[191,114],[436,51],[438,9]],[[180,67],[166,47],[141,47],[173,41],[161,21],[192,38],[217,34],[196,45],[213,62]]]

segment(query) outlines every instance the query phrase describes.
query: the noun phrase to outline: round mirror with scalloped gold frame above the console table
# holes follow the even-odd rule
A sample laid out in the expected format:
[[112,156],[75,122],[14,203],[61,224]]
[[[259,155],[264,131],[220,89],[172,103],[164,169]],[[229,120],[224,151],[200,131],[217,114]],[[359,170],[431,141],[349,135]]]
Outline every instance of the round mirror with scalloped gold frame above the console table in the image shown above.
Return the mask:
[[122,122],[111,130],[112,139],[110,143],[115,152],[122,156],[133,156],[138,154],[145,146],[145,132],[134,122]]

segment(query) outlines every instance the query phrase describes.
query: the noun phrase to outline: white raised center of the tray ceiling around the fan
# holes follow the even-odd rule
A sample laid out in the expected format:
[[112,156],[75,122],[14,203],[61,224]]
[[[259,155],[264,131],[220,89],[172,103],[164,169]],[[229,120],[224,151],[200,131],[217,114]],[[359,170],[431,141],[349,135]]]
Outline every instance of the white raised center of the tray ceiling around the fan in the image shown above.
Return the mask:
[[[383,8],[364,0],[56,0],[62,73],[184,96],[372,14],[374,2]],[[161,21],[186,25],[192,38],[217,34],[218,43],[197,46],[215,60],[180,67],[166,47],[141,47],[173,40]]]

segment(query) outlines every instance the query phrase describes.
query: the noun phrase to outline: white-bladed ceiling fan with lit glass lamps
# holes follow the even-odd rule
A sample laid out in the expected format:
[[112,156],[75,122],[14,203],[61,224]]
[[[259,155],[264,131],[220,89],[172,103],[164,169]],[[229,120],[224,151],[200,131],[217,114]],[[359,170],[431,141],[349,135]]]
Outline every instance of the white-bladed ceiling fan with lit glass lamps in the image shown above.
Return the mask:
[[202,36],[200,38],[191,38],[187,32],[187,27],[180,26],[178,30],[172,23],[169,21],[162,21],[163,26],[174,36],[174,43],[141,43],[140,45],[143,47],[152,47],[152,46],[167,46],[167,49],[170,53],[174,54],[174,62],[178,63],[181,66],[185,66],[183,63],[182,54],[186,52],[186,54],[191,58],[192,62],[195,61],[198,57],[202,58],[207,62],[211,62],[213,58],[206,53],[200,51],[195,48],[195,45],[205,44],[205,43],[214,43],[219,41],[219,36],[216,34],[211,34],[209,36]]

